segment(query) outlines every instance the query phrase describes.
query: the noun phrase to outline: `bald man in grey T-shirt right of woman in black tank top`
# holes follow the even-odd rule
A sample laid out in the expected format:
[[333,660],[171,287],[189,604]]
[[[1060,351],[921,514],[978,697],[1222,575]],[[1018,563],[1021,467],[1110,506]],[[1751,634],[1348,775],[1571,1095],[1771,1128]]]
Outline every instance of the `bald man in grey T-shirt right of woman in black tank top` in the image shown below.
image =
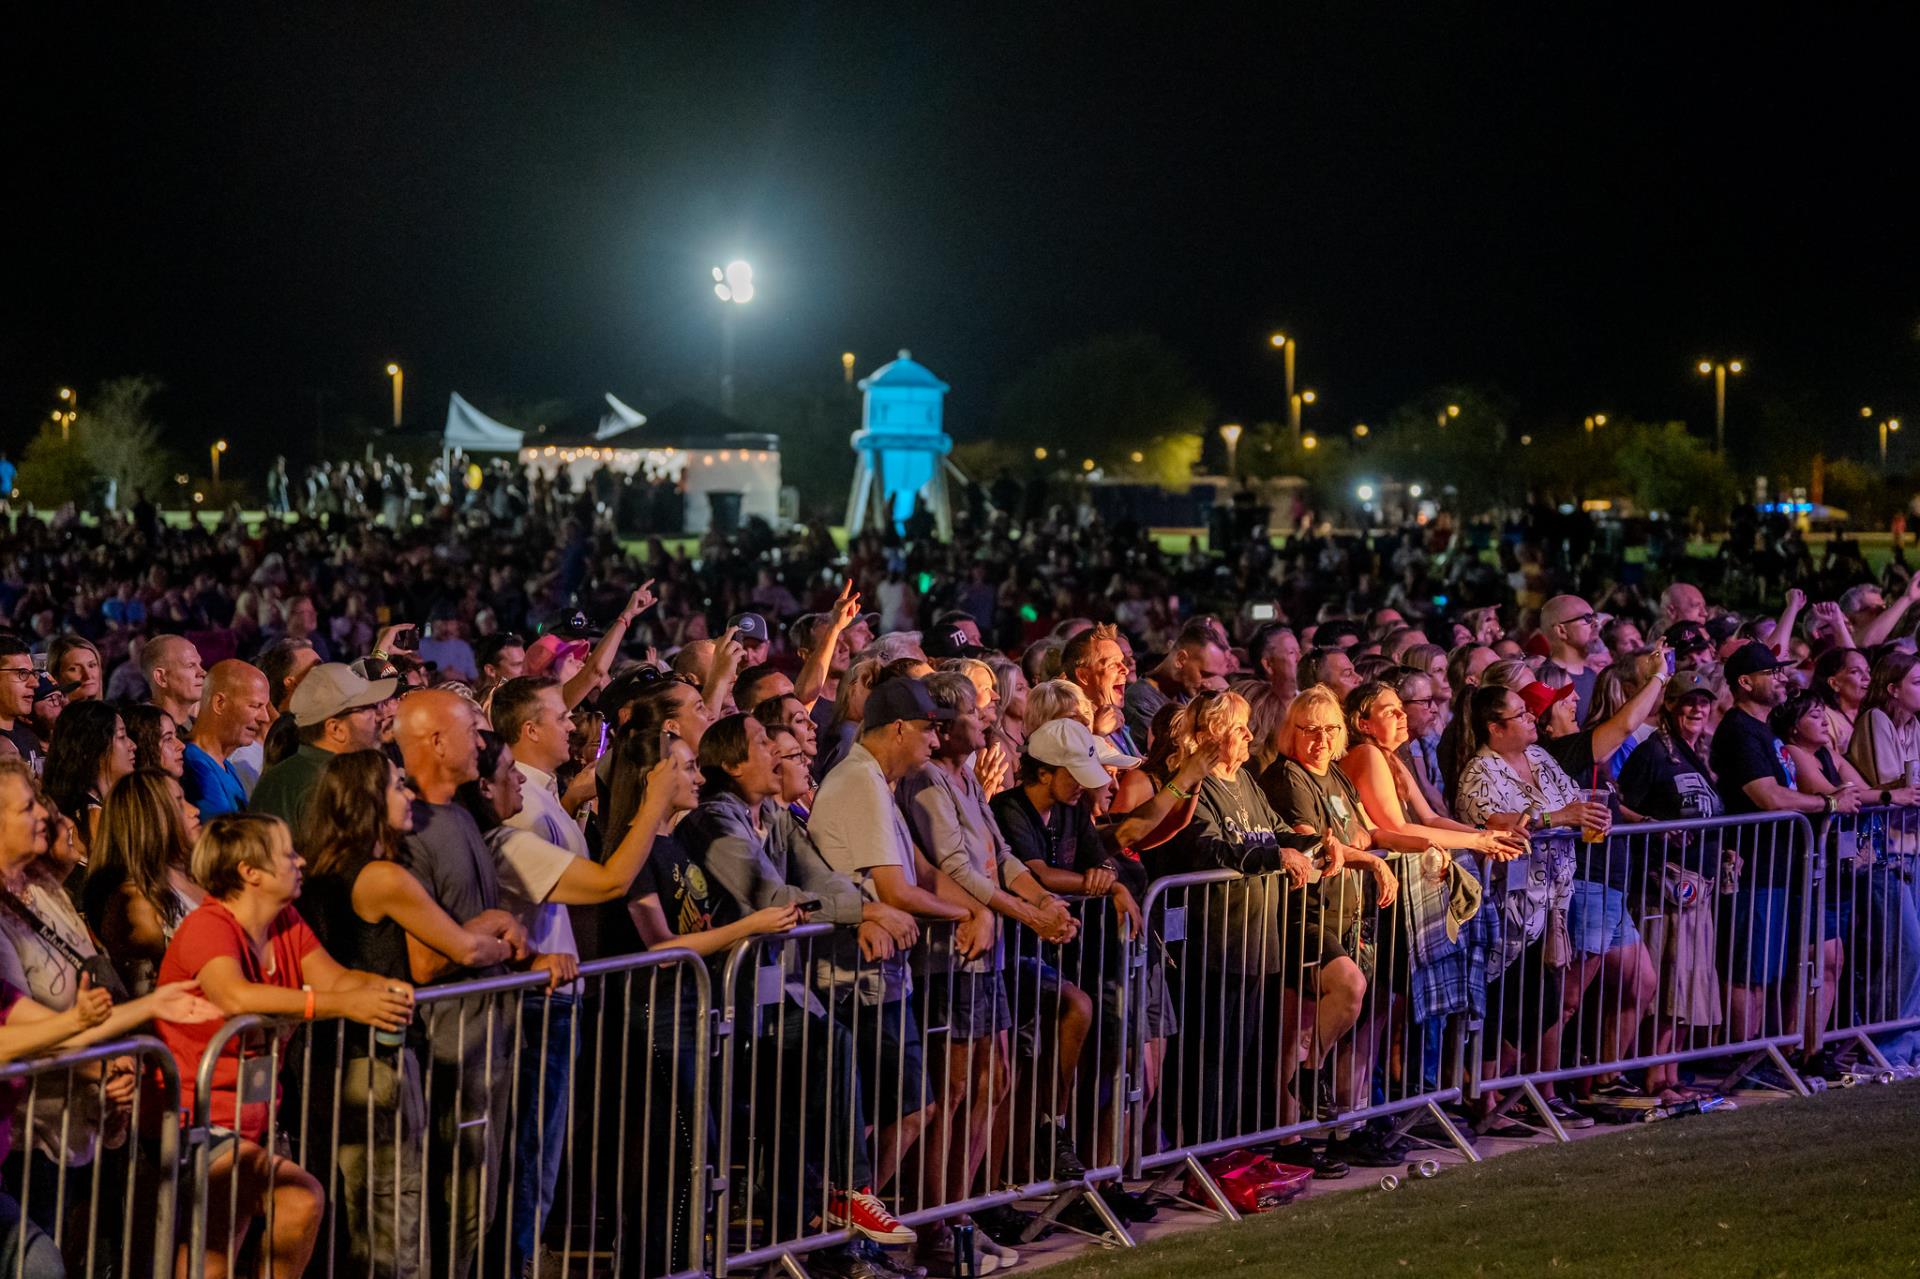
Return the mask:
[[[467,928],[503,937],[515,958],[526,958],[526,931],[501,910],[499,874],[480,828],[453,795],[480,776],[480,718],[476,707],[445,689],[424,689],[399,699],[394,741],[407,760],[413,784],[413,832],[405,837],[401,862],[428,895]],[[505,922],[505,928],[501,926]],[[555,956],[564,958],[564,956]],[[497,977],[503,966],[461,968],[434,956],[434,968],[415,966],[428,983]],[[578,972],[578,970],[574,970]],[[555,972],[570,979],[574,972]],[[447,1098],[434,1106],[442,1150],[457,1154],[428,1168],[440,1185],[428,1187],[434,1239],[453,1239],[447,1273],[472,1273],[480,1239],[499,1208],[501,1141],[511,1123],[507,1114],[513,1070],[505,1027],[515,1018],[511,1004],[490,1016],[488,995],[442,1001],[426,1014],[432,1064],[428,1097]],[[543,1050],[532,1045],[530,1052]],[[493,1170],[484,1175],[482,1170]],[[484,1185],[482,1185],[484,1183]],[[482,1202],[482,1189],[486,1200]],[[438,1193],[434,1193],[438,1191]],[[457,1218],[449,1216],[457,1214]]]

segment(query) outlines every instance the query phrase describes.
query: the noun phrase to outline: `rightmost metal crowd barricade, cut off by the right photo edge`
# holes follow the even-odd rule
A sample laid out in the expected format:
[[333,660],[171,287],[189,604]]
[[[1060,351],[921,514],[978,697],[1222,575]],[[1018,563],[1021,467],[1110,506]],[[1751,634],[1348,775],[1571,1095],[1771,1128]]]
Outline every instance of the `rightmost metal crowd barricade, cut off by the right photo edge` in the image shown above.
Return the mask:
[[1822,830],[1824,999],[1816,1045],[1876,1072],[1920,1064],[1920,808],[1834,814]]

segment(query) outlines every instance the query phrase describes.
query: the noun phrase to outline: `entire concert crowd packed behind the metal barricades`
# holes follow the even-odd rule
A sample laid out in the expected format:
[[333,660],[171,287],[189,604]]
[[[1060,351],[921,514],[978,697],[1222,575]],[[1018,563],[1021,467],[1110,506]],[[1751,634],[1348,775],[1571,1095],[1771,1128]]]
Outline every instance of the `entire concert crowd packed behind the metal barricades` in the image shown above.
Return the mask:
[[[1035,1179],[1085,1175],[1069,1114],[1119,1104],[1087,1045],[1117,1041],[1133,977],[1037,956],[1102,920],[1139,943],[1154,881],[1181,872],[1281,891],[1231,899],[1233,943],[1204,964],[1148,951],[1140,1083],[1188,1085],[1150,1143],[1284,1108],[1235,1062],[1286,1062],[1283,1093],[1296,1068],[1336,1064],[1340,1106],[1365,1106],[1392,1068],[1367,1037],[1377,983],[1421,1018],[1484,1024],[1500,1074],[1559,1068],[1592,989],[1611,991],[1599,1060],[1665,1052],[1720,1008],[1730,1041],[1816,1031],[1860,968],[1880,1004],[1847,1016],[1920,1026],[1920,914],[1887,839],[1849,843],[1859,874],[1830,880],[1845,887],[1811,922],[1811,1008],[1789,999],[1799,870],[1705,835],[1605,853],[1638,822],[1920,803],[1920,578],[1899,567],[1809,580],[1818,603],[1789,588],[1763,613],[1526,519],[1210,555],[1087,511],[962,511],[950,543],[841,551],[818,524],[749,526],[670,553],[624,545],[591,488],[520,501],[501,480],[501,501],[455,501],[442,476],[420,507],[319,495],[346,484],[328,472],[278,507],[324,519],[21,520],[0,542],[0,1060],[156,1029],[182,1110],[207,1106],[219,1135],[192,1206],[205,1273],[253,1250],[298,1275],[328,1219],[359,1267],[465,1275],[499,1248],[522,1273],[584,1158],[563,1141],[568,1100],[593,1104],[568,1087],[580,964],[718,964],[808,922],[845,949],[804,977],[818,997],[793,1022],[828,1064],[822,1095],[858,1118],[791,1191],[793,1221],[849,1231],[808,1262],[849,1279],[1018,1264],[1018,1210],[912,1229],[889,1187],[916,1146],[937,1204],[987,1189],[983,1160],[1008,1148]],[[1375,962],[1386,912],[1430,937],[1404,964]],[[1181,1043],[1183,1004],[1256,970],[1279,976],[1277,1012]],[[415,1006],[509,972],[545,976],[515,1002],[518,1035],[457,1016],[468,1001]],[[922,985],[937,1035],[916,1022]],[[685,1016],[672,989],[632,1026]],[[192,1097],[238,1014],[332,1045],[344,1110],[371,1116],[332,1168],[275,1139],[238,1043]],[[1878,1047],[1920,1062],[1920,1031]],[[668,1079],[707,1068],[655,1052]],[[1834,1068],[1824,1050],[1801,1064]],[[86,1070],[90,1114],[10,1102],[0,1120],[0,1258],[29,1275],[71,1264],[60,1179],[150,1148],[125,1123],[150,1079],[131,1058]],[[1044,1070],[1050,1102],[1000,1104],[1010,1070]],[[1672,1062],[1605,1083],[1697,1095]],[[1592,1123],[1588,1095],[1544,1093],[1561,1123]],[[1033,1131],[1000,1131],[1008,1116]],[[173,1118],[150,1106],[157,1122]],[[457,1156],[376,1158],[407,1141]],[[660,1123],[637,1148],[726,1166],[701,1143]],[[1357,1123],[1277,1154],[1342,1177],[1404,1146]],[[684,1179],[649,1193],[672,1206]],[[1117,1183],[1102,1195],[1154,1214]],[[687,1246],[685,1214],[664,1216],[630,1244],[641,1269]]]

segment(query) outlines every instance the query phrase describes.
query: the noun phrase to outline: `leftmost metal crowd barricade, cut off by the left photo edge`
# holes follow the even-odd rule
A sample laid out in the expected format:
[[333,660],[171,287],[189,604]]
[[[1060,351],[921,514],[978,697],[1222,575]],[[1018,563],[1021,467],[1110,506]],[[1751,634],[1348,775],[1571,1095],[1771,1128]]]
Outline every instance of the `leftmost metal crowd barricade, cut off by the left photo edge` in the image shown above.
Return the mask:
[[[123,1110],[108,1077],[129,1064],[136,1087]],[[25,1221],[44,1231],[75,1279],[171,1275],[180,1081],[167,1045],[132,1035],[10,1062],[0,1085],[25,1102],[12,1118],[21,1173],[10,1187],[23,1225],[0,1254],[0,1275],[27,1271]]]

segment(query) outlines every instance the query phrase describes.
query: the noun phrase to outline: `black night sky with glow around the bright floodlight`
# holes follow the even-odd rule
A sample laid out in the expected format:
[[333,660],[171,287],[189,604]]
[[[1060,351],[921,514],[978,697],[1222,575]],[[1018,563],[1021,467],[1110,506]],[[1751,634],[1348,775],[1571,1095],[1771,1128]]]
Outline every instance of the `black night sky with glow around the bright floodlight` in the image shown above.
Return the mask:
[[13,446],[121,373],[242,461],[317,392],[380,417],[388,359],[415,421],[657,403],[710,384],[732,255],[743,380],[906,346],[956,434],[1110,330],[1277,415],[1275,326],[1329,421],[1486,382],[1699,422],[1715,351],[1736,421],[1920,417],[1899,6],[58,8],[6,88]]

